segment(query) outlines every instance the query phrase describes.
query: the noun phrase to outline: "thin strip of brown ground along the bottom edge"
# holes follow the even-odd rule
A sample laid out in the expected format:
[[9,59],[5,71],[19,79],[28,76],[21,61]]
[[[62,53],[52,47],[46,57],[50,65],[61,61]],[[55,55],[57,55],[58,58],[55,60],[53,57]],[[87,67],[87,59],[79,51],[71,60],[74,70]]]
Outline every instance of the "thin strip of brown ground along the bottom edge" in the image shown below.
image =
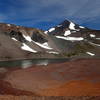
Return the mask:
[[66,96],[0,96],[0,100],[100,100],[99,96],[81,96],[81,97],[66,97]]

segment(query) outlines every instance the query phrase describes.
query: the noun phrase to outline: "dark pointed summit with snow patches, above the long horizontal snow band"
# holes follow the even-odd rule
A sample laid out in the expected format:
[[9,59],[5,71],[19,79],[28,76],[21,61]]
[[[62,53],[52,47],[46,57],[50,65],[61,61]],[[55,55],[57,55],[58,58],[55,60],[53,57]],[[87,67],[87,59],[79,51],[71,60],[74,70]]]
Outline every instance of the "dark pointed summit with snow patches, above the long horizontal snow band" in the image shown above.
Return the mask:
[[69,36],[72,33],[80,32],[86,30],[87,28],[73,23],[72,21],[64,20],[59,25],[50,28],[45,31],[45,34],[59,35],[59,36]]

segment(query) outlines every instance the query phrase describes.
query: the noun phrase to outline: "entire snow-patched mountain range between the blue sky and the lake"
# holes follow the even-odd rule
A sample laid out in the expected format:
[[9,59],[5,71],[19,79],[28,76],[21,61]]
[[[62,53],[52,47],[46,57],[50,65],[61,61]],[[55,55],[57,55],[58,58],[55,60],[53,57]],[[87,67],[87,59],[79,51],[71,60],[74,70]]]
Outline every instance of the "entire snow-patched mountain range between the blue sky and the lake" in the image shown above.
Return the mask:
[[43,31],[0,23],[0,60],[100,57],[100,31],[65,20]]

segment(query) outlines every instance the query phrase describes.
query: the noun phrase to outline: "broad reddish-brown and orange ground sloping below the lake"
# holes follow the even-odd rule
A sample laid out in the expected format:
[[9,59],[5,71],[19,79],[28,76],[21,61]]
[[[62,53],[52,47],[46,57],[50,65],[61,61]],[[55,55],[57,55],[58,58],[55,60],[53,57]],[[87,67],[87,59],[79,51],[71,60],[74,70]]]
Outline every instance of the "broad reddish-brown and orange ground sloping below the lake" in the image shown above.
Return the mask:
[[100,59],[13,68],[1,74],[3,95],[100,96]]

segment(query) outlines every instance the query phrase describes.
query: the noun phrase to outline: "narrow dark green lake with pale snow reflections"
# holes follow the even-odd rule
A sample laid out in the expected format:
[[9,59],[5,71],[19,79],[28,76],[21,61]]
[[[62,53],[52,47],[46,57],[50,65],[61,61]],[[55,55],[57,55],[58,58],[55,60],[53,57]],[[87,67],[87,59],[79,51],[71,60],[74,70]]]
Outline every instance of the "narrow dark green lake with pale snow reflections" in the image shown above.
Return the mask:
[[66,62],[69,59],[32,59],[32,60],[16,60],[16,61],[0,61],[1,67],[19,67],[19,68],[28,68],[33,65],[48,65],[52,63],[62,63]]

